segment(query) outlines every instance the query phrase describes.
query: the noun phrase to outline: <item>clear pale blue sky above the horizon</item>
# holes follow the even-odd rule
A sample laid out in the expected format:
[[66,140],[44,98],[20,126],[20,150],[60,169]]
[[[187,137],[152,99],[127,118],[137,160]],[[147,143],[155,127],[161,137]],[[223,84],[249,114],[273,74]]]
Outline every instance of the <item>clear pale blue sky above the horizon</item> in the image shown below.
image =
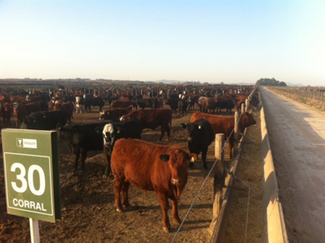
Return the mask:
[[0,0],[0,79],[325,86],[324,13],[324,0]]

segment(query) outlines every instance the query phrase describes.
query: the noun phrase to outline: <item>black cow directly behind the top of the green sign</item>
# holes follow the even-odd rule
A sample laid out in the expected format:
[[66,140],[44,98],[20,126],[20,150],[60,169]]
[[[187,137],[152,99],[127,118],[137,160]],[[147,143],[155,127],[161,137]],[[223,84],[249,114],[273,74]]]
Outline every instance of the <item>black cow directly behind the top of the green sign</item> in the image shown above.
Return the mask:
[[67,113],[65,110],[50,110],[32,112],[23,118],[21,129],[51,130],[57,124],[64,126],[67,123]]

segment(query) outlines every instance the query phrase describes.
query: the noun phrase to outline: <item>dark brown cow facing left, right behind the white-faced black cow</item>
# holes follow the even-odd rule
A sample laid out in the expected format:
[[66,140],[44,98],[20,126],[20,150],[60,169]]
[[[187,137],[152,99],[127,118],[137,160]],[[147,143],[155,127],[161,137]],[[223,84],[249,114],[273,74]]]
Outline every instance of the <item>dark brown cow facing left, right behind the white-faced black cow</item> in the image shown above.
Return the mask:
[[[134,110],[131,113],[124,115],[121,120],[130,118],[134,118],[139,122],[141,130],[144,128],[156,129],[160,126],[161,135],[159,140],[162,140],[165,132],[167,132],[169,140],[170,127],[172,126],[172,111],[170,109]],[[168,123],[170,123],[170,126]]]

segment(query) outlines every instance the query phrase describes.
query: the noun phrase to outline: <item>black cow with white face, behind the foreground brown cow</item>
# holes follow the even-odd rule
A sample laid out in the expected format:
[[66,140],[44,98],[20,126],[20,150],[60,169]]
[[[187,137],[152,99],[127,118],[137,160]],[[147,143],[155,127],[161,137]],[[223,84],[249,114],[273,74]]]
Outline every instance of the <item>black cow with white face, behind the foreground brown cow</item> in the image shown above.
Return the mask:
[[104,140],[104,153],[107,159],[107,166],[104,178],[110,173],[110,156],[113,151],[116,140],[120,138],[137,138],[141,139],[141,127],[135,119],[126,119],[120,122],[111,122],[104,127],[97,127],[96,132],[101,132]]

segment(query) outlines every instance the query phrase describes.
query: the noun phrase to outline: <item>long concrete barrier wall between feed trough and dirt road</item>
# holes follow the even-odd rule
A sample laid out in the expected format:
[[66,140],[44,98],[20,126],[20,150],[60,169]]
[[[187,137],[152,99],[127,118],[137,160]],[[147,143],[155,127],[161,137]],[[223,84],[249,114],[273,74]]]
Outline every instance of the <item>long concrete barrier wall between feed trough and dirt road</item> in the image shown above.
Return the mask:
[[[263,98],[262,98],[263,99]],[[262,101],[262,99],[260,99]],[[263,242],[265,243],[287,243],[287,231],[281,203],[279,202],[279,187],[274,171],[274,164],[268,133],[266,129],[263,102],[261,104],[261,133],[262,133],[262,158],[264,176],[263,188]]]

